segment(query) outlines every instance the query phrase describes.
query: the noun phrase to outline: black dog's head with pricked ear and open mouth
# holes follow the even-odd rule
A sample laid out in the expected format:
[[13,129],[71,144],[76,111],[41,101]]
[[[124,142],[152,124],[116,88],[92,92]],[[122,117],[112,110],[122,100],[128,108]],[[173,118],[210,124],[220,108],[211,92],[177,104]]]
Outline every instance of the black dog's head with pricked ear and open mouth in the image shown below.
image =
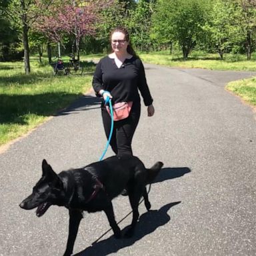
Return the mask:
[[63,195],[63,183],[45,159],[43,159],[42,169],[43,175],[33,187],[33,193],[19,205],[25,210],[37,207],[37,217],[41,217],[51,205],[59,205]]

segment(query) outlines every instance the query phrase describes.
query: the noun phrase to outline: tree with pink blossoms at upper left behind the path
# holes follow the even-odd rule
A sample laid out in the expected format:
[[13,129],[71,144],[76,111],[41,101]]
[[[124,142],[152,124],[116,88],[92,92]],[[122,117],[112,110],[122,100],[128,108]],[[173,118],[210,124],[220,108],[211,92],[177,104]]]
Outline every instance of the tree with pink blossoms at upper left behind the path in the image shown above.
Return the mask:
[[63,35],[74,38],[77,59],[79,59],[79,42],[85,35],[95,35],[95,22],[99,11],[111,1],[75,1],[65,0],[52,5],[47,13],[41,15],[34,29],[45,34],[51,41],[61,42]]

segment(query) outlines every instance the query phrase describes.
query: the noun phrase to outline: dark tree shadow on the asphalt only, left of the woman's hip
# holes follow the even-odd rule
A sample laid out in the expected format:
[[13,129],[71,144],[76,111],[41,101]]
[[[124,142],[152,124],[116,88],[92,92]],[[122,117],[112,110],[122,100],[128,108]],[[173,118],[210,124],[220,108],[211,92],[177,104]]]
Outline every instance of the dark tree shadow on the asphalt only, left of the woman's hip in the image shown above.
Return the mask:
[[93,97],[91,95],[83,95],[77,101],[73,102],[67,109],[60,111],[57,115],[69,115],[76,113],[76,111],[84,111],[90,109],[99,109],[101,106],[101,98]]

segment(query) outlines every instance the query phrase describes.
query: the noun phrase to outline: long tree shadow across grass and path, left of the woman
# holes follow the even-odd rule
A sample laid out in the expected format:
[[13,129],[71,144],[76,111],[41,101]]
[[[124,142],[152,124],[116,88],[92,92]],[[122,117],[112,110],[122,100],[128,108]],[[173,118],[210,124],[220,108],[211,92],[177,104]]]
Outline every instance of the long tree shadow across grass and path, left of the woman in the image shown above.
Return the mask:
[[93,105],[98,108],[101,103],[101,99],[97,97],[89,95],[81,96],[78,99],[77,97],[76,94],[61,91],[37,95],[0,94],[0,123],[27,125],[28,114],[43,117],[67,115],[74,113],[75,110],[93,109],[91,107]]

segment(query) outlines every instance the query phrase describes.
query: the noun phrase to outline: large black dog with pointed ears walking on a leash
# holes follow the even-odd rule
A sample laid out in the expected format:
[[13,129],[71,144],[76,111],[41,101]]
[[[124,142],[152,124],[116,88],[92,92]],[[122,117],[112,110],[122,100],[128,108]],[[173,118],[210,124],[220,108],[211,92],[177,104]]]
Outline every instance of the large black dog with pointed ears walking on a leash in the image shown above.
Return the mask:
[[111,200],[125,188],[133,209],[133,219],[125,236],[131,237],[139,218],[138,206],[142,196],[147,210],[151,208],[145,186],[153,181],[162,166],[163,163],[157,162],[151,169],[146,169],[137,157],[109,157],[57,175],[47,161],[43,160],[43,176],[33,187],[33,193],[19,206],[26,210],[37,207],[38,217],[51,205],[67,207],[69,237],[64,255],[71,255],[83,211],[105,211],[114,236],[121,237]]

